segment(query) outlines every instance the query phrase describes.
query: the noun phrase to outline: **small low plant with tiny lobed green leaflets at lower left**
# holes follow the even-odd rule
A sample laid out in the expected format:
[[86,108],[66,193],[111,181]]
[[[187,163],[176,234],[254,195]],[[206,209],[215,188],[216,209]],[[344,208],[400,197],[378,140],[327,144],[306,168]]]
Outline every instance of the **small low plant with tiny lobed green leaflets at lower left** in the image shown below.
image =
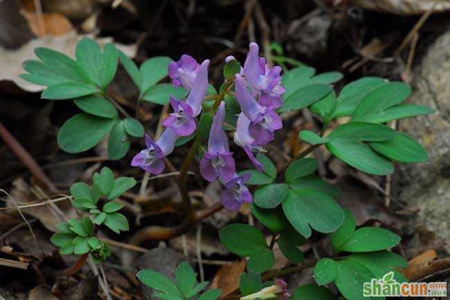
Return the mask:
[[[115,178],[107,167],[93,175],[93,185],[76,182],[71,187],[72,205],[82,213],[81,218],[71,218],[60,223],[60,232],[53,234],[51,241],[60,247],[61,254],[91,254],[94,262],[105,261],[111,254],[109,245],[96,235],[105,225],[116,234],[129,229],[127,218],[120,214],[123,204],[114,199],[136,185],[129,177]],[[76,271],[75,271],[76,272]]]

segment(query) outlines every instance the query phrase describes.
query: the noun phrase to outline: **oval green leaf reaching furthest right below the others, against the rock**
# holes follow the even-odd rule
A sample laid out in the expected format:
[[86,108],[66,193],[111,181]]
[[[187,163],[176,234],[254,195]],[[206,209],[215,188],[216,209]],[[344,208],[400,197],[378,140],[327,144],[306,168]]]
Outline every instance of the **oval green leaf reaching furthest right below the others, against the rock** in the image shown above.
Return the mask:
[[397,162],[429,161],[424,147],[404,133],[398,133],[392,140],[371,142],[369,145],[378,153]]

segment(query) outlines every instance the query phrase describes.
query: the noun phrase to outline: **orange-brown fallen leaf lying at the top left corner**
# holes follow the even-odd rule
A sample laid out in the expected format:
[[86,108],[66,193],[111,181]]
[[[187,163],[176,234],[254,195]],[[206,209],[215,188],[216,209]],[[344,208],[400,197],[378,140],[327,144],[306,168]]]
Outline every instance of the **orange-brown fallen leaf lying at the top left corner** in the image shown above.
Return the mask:
[[45,35],[65,35],[73,30],[71,21],[64,17],[64,15],[56,12],[46,12],[40,16],[36,12],[28,12],[26,10],[22,10],[22,13],[27,19],[31,31],[38,37],[44,37]]

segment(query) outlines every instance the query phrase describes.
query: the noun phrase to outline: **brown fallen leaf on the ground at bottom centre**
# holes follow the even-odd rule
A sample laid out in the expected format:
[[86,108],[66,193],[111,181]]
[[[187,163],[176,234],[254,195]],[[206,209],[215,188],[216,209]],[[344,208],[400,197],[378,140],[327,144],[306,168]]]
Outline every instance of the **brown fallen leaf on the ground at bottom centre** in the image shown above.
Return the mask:
[[211,288],[219,288],[222,294],[230,294],[233,290],[239,288],[239,280],[242,272],[245,271],[247,261],[235,261],[231,265],[223,265],[214,276]]

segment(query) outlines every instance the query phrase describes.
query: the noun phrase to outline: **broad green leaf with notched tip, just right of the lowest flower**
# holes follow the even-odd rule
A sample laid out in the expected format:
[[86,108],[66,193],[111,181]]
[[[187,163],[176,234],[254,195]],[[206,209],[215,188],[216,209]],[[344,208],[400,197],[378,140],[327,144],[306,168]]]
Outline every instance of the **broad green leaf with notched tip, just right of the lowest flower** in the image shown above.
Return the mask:
[[309,225],[318,232],[330,233],[338,229],[344,219],[336,201],[315,189],[289,191],[282,208],[291,225],[305,238],[311,236]]

